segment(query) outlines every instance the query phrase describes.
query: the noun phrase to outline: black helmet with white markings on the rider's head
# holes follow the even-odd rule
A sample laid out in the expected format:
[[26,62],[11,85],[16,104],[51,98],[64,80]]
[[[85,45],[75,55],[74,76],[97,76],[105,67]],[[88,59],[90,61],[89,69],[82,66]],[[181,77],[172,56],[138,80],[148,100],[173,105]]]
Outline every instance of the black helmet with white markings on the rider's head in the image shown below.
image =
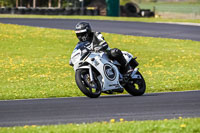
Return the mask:
[[92,32],[91,26],[88,22],[79,22],[75,28],[76,36],[81,42],[89,41]]

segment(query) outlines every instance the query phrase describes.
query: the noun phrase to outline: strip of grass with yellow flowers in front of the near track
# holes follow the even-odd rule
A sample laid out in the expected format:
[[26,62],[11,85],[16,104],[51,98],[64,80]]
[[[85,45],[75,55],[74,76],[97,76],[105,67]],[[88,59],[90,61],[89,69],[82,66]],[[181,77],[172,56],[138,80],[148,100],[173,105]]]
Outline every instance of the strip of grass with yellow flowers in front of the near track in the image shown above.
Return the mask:
[[0,128],[2,133],[199,133],[200,118]]

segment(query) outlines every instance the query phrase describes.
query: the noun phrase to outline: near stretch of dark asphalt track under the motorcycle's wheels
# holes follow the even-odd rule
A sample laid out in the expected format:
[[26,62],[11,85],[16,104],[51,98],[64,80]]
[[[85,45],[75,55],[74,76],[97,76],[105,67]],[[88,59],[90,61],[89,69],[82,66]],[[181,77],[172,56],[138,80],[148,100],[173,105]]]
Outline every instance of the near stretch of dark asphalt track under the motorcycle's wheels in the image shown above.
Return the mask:
[[200,91],[0,101],[0,126],[200,117]]

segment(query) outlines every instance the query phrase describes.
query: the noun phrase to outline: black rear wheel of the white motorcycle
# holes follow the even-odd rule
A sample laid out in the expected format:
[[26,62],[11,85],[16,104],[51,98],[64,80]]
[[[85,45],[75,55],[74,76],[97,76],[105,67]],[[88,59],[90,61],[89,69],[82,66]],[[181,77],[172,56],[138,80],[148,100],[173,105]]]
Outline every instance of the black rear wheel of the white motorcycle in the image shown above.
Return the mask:
[[124,86],[124,88],[129,94],[133,96],[141,96],[146,90],[146,84],[141,73],[138,71],[136,74],[139,75],[140,78],[130,79],[128,83]]

